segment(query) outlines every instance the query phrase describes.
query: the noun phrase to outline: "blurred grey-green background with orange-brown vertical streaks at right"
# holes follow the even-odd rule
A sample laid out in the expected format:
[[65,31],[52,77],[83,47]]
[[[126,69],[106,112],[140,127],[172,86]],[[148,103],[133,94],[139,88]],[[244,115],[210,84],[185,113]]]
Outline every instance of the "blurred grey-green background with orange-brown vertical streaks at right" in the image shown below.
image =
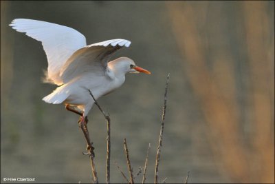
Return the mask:
[[[8,26],[15,18],[67,25],[87,43],[129,39],[130,57],[152,74],[128,74],[99,103],[111,114],[111,182],[151,151],[153,182],[166,76],[170,72],[159,181],[274,183],[274,1],[1,1],[1,183],[91,182],[78,116],[41,99],[47,59],[39,41]],[[89,113],[100,183],[106,181],[107,123]],[[128,175],[127,175],[128,176]],[[137,183],[142,176],[137,176]]]

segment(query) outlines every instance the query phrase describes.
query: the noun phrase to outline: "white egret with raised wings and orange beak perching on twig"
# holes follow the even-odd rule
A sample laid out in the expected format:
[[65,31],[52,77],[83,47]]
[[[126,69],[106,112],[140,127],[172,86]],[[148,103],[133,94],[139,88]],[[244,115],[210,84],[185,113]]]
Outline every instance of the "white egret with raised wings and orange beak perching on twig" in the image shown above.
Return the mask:
[[[67,110],[80,115],[79,123],[101,96],[120,88],[125,74],[151,74],[135,65],[128,57],[111,60],[121,48],[128,48],[131,41],[111,39],[87,45],[83,34],[73,28],[33,19],[14,19],[10,26],[18,32],[41,41],[47,56],[45,82],[58,87],[43,98],[46,103],[65,105]],[[92,92],[94,98],[91,98]]]

